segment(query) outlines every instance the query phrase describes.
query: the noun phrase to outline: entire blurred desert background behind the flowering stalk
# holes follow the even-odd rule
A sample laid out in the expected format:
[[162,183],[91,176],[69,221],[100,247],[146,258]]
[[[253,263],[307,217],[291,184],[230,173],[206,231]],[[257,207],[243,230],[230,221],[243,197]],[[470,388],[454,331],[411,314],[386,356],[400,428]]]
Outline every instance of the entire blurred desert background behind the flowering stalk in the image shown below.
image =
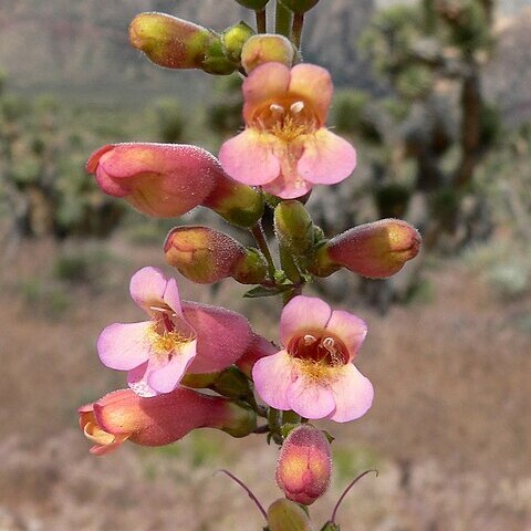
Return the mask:
[[[142,319],[128,279],[166,268],[175,225],[104,196],[84,162],[126,140],[217,153],[242,125],[237,76],[163,71],[128,46],[149,10],[250,21],[231,0],[0,3],[1,531],[261,529],[219,468],[264,506],[280,496],[260,436],[201,430],[96,458],[76,427],[81,404],[124,385],[95,340]],[[358,366],[376,398],[329,426],[335,473],[312,513],[324,521],[377,468],[342,507],[345,531],[531,530],[531,0],[323,0],[306,19],[304,59],[331,70],[331,125],[360,155],[352,178],[315,189],[315,221],[333,236],[403,217],[424,237],[393,281],[313,288],[367,321]],[[177,222],[229,230],[201,210]],[[278,340],[274,302],[179,282]]]

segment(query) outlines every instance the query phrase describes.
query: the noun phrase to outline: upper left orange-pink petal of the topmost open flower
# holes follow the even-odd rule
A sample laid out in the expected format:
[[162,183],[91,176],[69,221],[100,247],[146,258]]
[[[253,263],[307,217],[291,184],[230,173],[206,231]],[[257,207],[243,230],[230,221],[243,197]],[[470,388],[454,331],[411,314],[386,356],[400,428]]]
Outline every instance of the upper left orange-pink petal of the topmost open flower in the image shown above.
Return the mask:
[[243,119],[249,125],[254,112],[268,100],[283,95],[290,85],[290,69],[281,63],[264,63],[243,82]]

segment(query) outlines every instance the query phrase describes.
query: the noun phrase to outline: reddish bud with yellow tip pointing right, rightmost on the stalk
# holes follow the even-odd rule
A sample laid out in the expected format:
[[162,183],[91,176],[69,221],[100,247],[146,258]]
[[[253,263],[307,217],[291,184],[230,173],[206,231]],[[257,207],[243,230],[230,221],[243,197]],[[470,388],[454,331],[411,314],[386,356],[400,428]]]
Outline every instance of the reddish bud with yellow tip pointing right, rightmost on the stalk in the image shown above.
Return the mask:
[[419,248],[415,227],[399,219],[381,219],[327,241],[317,250],[312,272],[326,277],[344,267],[369,279],[383,279],[397,273]]

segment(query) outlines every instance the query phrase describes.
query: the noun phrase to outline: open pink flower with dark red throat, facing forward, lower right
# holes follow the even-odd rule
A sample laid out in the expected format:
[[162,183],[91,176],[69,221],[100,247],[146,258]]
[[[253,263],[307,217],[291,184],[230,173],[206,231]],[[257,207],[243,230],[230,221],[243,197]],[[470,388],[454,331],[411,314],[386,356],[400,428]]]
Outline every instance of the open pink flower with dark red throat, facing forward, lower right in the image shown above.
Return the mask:
[[351,362],[366,333],[360,317],[332,311],[321,299],[295,296],[280,320],[284,348],[252,369],[259,395],[269,406],[305,418],[346,423],[363,416],[373,386]]

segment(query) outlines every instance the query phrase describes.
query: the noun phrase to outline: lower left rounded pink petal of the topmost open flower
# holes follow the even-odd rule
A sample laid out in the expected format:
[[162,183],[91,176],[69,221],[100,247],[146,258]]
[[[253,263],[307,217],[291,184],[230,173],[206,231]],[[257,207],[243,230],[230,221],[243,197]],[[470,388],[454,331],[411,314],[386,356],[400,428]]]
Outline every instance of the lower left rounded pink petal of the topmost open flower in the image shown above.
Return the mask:
[[277,138],[249,127],[227,140],[219,152],[219,162],[227,174],[246,185],[264,185],[280,174],[280,162],[273,153]]

